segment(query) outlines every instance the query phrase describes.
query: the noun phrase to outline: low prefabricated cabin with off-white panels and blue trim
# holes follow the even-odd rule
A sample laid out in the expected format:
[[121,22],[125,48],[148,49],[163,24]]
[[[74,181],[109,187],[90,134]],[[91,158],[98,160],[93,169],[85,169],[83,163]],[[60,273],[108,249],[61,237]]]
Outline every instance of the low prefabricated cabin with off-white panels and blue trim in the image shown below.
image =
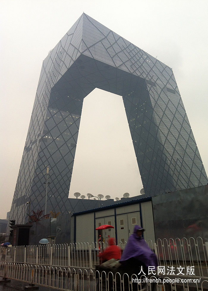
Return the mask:
[[137,196],[126,202],[125,198],[122,198],[120,203],[102,209],[76,213],[73,217],[75,221],[73,220],[71,223],[71,227],[74,229],[74,232],[71,230],[71,241],[79,243],[98,242],[99,232],[95,229],[103,224],[108,224],[114,228],[103,230],[102,241],[108,241],[108,238],[113,237],[116,238],[117,242],[124,244],[137,224],[146,229],[144,238],[152,239],[155,242],[151,197],[139,199]]

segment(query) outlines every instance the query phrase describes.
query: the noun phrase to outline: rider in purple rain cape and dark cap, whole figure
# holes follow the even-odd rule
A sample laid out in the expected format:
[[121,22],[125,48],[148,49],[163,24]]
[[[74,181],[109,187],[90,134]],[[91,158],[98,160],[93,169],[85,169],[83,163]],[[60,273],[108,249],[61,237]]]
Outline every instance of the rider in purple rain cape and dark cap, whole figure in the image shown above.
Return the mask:
[[[158,262],[156,255],[152,252],[142,237],[143,232],[144,228],[135,225],[134,232],[129,237],[120,259],[120,263],[123,268],[132,273],[138,273],[139,267],[142,266],[142,270],[146,275],[148,275],[148,267],[152,267],[151,269],[156,271]],[[142,274],[143,273],[141,273],[141,275]]]

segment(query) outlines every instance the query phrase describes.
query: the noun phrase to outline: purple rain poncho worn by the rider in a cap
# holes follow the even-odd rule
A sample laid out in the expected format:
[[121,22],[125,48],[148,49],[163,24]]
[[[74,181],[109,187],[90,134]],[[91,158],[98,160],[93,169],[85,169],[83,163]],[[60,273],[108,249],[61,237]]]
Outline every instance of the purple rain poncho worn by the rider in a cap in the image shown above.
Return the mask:
[[138,230],[144,229],[139,225],[135,225],[134,232],[129,237],[120,262],[123,263],[131,258],[134,258],[143,262],[146,267],[152,266],[157,268],[157,257],[149,248],[144,238],[137,236]]

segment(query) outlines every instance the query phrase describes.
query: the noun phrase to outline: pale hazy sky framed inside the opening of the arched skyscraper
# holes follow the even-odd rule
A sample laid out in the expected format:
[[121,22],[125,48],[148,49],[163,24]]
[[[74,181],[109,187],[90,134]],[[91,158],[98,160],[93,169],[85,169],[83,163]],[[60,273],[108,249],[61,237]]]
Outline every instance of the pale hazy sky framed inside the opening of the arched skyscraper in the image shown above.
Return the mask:
[[83,102],[69,198],[136,196],[142,187],[122,96],[95,88]]

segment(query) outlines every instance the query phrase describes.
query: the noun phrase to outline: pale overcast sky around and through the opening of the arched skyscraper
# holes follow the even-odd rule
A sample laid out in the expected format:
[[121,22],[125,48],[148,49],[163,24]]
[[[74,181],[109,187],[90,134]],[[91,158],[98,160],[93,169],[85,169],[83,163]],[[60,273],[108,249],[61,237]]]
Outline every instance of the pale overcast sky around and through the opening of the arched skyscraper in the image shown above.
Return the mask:
[[[6,218],[6,213],[10,211],[42,61],[83,12],[173,68],[196,143],[208,173],[207,11],[207,0],[1,0],[0,218]],[[124,108],[121,98],[108,94],[101,97],[102,95],[103,93],[97,91],[84,100],[82,117],[83,120],[84,118],[89,118],[89,120],[83,124],[90,124],[92,112],[96,115],[100,106],[103,106],[106,110],[109,108],[106,114],[110,118],[115,110],[118,112],[119,108],[121,120],[118,121],[117,118],[112,118],[112,120],[115,120],[115,128],[118,128],[119,124],[125,127],[126,117],[125,114],[122,115]],[[125,135],[120,132],[121,138],[126,137],[126,151],[123,156],[124,148],[119,148],[119,143],[116,143],[120,137],[117,136],[117,140],[113,139],[112,132],[106,131],[106,115],[102,116],[100,113],[96,118],[99,116],[101,117],[100,136],[97,139],[101,144],[94,149],[96,148],[97,151],[97,148],[100,148],[102,152],[102,143],[108,141],[109,156],[114,157],[111,159],[112,165],[109,167],[103,162],[101,153],[99,159],[96,159],[101,165],[97,171],[97,179],[105,176],[105,183],[97,182],[95,186],[93,182],[91,185],[90,175],[88,175],[86,181],[83,180],[83,185],[78,187],[80,185],[78,176],[81,173],[79,167],[85,169],[85,172],[89,169],[88,164],[85,163],[87,161],[84,160],[84,149],[81,149],[80,142],[80,145],[77,145],[70,195],[73,196],[74,192],[81,192],[83,195],[90,192],[94,195],[109,194],[111,197],[122,197],[123,193],[129,192],[130,196],[135,196],[142,188],[142,184],[132,154],[133,146],[128,139],[128,132]],[[104,140],[101,128],[103,135],[106,136]],[[95,129],[91,128],[91,132]],[[110,135],[107,137],[108,133]],[[86,129],[83,127],[82,139],[84,134],[86,134]],[[78,137],[78,143],[79,140],[81,137]],[[115,151],[115,149],[118,150]],[[125,171],[128,176],[125,183],[121,183],[119,179]],[[110,178],[107,177],[109,172]],[[108,189],[106,181],[110,185]]]

